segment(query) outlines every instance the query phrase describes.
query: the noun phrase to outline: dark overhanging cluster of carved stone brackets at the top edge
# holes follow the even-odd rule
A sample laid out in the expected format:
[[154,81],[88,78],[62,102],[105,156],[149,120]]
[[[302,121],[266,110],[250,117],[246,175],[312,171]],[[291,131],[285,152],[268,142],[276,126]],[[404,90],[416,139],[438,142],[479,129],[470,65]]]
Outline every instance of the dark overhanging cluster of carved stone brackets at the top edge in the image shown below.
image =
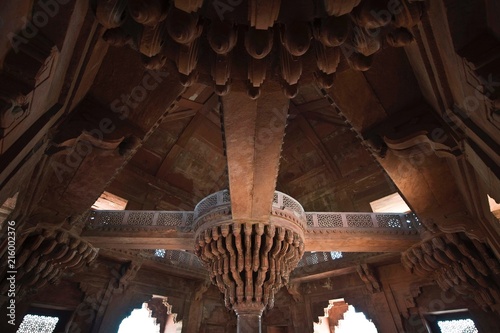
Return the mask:
[[239,81],[251,98],[266,79],[293,98],[301,81],[329,88],[339,67],[366,71],[384,47],[411,43],[424,13],[423,2],[411,0],[91,3],[103,38],[138,50],[146,68],[169,61],[185,86],[200,81],[225,95]]

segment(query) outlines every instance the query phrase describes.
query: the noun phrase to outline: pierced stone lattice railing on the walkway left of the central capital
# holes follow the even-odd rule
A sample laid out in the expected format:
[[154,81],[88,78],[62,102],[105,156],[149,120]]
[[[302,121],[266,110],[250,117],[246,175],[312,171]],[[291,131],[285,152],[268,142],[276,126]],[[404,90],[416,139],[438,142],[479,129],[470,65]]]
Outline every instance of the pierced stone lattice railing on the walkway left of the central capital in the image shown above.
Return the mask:
[[87,228],[106,226],[157,226],[183,228],[193,223],[193,212],[155,210],[96,210],[87,217]]

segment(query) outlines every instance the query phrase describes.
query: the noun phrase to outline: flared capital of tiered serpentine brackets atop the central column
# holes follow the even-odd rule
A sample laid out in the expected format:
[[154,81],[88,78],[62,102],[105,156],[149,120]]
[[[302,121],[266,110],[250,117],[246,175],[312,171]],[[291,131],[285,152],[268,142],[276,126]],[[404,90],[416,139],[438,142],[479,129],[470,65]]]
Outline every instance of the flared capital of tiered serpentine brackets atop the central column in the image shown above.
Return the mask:
[[196,255],[228,309],[238,314],[271,309],[304,254],[305,215],[273,206],[267,222],[235,221],[229,201],[210,204],[211,199],[195,209]]

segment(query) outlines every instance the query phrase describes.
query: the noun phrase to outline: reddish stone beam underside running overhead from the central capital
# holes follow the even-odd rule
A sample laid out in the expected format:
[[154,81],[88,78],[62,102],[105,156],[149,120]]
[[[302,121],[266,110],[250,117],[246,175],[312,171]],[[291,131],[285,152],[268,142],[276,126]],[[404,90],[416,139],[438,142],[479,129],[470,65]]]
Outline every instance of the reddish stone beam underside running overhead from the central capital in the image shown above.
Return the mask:
[[222,97],[232,214],[267,220],[278,175],[288,99],[267,90],[258,100],[242,92]]

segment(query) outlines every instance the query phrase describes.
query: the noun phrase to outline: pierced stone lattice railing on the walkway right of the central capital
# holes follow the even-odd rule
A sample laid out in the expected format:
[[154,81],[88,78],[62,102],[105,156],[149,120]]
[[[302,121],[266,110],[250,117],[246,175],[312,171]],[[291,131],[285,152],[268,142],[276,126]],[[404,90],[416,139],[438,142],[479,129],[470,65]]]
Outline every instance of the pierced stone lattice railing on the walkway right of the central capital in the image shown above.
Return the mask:
[[389,228],[415,230],[420,227],[413,213],[323,213],[307,212],[307,229]]

